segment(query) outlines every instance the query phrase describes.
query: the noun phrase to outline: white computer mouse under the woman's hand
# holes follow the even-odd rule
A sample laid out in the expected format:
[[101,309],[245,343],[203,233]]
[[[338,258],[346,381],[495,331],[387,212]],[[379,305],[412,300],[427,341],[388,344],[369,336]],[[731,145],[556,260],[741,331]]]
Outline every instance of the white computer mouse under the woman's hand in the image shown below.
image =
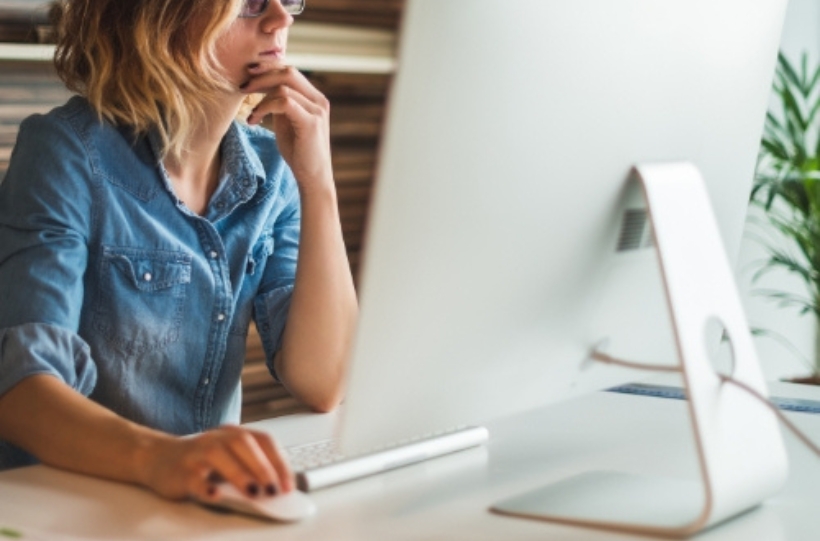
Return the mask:
[[230,483],[219,483],[215,498],[202,503],[277,522],[298,522],[316,514],[316,504],[304,492],[252,498]]

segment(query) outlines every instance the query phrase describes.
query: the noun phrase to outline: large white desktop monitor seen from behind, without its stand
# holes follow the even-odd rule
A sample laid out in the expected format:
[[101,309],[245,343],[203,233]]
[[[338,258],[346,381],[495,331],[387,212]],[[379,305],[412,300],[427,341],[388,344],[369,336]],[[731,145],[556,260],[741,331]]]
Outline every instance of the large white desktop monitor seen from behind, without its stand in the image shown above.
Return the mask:
[[342,446],[634,380],[589,362],[602,340],[676,364],[630,171],[694,164],[736,259],[785,6],[409,0]]

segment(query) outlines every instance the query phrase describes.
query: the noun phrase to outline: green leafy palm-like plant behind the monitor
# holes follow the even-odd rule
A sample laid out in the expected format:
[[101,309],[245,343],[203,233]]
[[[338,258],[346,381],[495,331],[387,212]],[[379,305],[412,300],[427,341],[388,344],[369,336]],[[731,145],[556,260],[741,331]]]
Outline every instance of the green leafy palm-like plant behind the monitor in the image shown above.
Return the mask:
[[[806,285],[806,295],[776,290],[761,293],[820,321],[820,67],[809,68],[805,54],[795,67],[781,53],[774,94],[751,203],[765,211],[786,243],[769,243],[769,256],[754,280],[775,268],[796,274]],[[819,368],[815,358],[811,375],[799,381],[820,383]]]

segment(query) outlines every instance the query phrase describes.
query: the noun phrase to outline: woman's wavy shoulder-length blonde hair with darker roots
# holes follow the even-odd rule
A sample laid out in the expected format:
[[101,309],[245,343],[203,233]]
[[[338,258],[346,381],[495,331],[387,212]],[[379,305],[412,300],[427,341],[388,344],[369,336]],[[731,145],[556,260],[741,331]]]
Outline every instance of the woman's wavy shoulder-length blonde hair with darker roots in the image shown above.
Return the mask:
[[54,63],[101,117],[155,129],[161,158],[180,158],[205,106],[230,88],[217,38],[242,0],[58,0]]

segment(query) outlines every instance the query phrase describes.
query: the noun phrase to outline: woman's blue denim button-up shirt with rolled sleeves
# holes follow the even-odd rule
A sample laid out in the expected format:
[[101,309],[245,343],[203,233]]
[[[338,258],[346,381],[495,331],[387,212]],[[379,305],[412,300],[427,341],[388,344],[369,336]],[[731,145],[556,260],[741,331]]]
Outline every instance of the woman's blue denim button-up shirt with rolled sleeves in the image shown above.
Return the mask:
[[[274,136],[231,126],[204,216],[176,197],[157,148],[80,97],[21,124],[0,184],[0,396],[50,374],[189,434],[239,421],[251,318],[272,369],[300,221]],[[26,460],[0,445],[0,469]]]

